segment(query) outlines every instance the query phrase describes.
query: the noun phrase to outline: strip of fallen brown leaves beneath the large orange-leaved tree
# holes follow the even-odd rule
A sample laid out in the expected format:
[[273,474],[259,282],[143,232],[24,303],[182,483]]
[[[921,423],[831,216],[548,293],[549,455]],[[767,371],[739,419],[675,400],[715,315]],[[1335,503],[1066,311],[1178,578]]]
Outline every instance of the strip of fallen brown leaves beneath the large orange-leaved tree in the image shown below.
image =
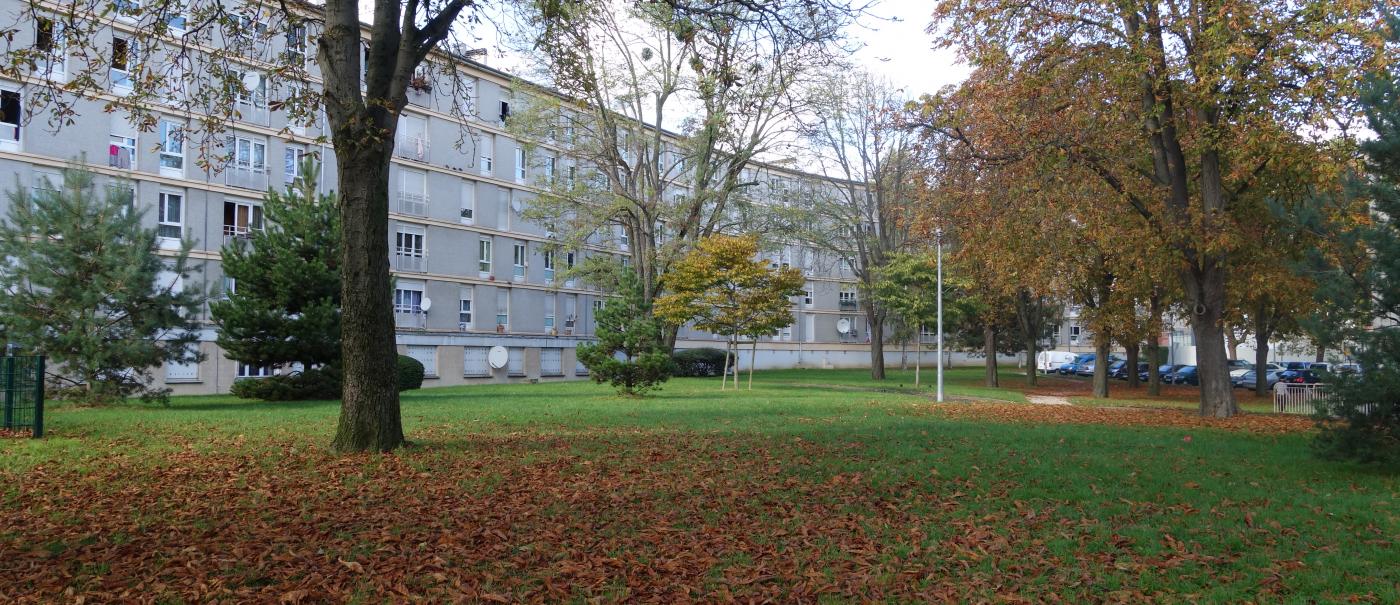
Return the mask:
[[1306,416],[1242,413],[1232,419],[1201,417],[1193,410],[1166,408],[1089,408],[1018,403],[941,405],[928,413],[955,419],[1040,424],[1112,424],[1180,429],[1224,429],[1245,433],[1299,433],[1315,429]]

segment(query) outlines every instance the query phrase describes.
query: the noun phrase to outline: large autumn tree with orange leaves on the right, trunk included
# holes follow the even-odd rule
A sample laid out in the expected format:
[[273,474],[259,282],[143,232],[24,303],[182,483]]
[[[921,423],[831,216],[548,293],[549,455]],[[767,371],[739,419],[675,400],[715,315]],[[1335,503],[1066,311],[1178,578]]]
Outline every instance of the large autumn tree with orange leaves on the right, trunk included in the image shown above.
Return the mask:
[[[1238,206],[1310,133],[1350,118],[1383,62],[1378,6],[1341,0],[944,0],[932,29],[974,66],[925,123],[983,158],[1093,181],[1113,223],[1166,242],[1197,343],[1203,416],[1238,413],[1225,367],[1229,258],[1259,245]],[[945,101],[960,97],[953,112]],[[1326,136],[1326,134],[1317,134]]]

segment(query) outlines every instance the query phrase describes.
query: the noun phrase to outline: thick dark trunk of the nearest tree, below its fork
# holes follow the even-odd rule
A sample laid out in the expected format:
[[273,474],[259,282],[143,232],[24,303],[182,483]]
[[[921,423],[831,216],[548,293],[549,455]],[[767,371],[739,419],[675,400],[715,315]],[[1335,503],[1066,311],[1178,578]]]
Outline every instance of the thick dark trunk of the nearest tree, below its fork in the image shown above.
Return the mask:
[[[393,134],[335,133],[340,162],[342,345],[344,395],[330,447],[389,451],[403,445],[393,293],[389,291],[389,154]],[[358,151],[358,153],[356,153]]]

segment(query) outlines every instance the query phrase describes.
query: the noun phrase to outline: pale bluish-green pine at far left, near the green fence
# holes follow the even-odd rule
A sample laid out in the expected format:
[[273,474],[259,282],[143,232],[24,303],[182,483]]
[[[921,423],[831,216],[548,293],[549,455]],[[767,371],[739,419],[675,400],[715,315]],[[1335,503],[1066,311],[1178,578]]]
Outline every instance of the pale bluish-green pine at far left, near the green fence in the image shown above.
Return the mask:
[[[92,175],[63,171],[59,183],[7,192],[0,221],[0,332],[22,350],[49,357],[50,381],[84,403],[140,394],[164,401],[151,370],[193,363],[196,314],[204,297],[181,287],[190,242],[174,256],[141,227],[132,189],[99,192]],[[50,382],[52,384],[52,382]]]

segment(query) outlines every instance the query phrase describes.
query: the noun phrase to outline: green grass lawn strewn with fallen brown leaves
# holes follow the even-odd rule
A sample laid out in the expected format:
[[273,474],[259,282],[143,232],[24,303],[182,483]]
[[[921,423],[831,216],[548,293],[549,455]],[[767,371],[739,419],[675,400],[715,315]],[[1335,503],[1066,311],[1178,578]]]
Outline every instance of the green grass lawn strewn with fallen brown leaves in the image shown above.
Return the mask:
[[416,391],[388,455],[335,402],[55,409],[0,440],[0,601],[1400,601],[1400,479],[1305,420],[861,375]]

